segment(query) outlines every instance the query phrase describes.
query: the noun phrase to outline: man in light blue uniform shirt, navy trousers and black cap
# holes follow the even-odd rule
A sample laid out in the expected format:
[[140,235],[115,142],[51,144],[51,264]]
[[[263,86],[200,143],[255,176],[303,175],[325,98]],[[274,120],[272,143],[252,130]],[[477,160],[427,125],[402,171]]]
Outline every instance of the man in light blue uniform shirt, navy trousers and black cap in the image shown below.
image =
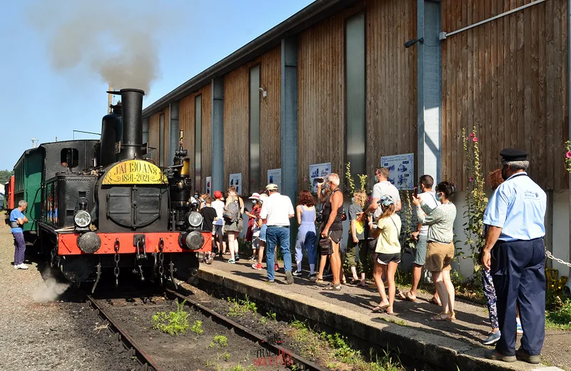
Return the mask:
[[[547,195],[527,173],[527,153],[500,152],[505,182],[490,198],[484,213],[488,226],[482,265],[490,269],[497,295],[502,333],[492,360],[540,362],[545,339],[545,209]],[[520,305],[522,344],[515,352],[516,303]]]

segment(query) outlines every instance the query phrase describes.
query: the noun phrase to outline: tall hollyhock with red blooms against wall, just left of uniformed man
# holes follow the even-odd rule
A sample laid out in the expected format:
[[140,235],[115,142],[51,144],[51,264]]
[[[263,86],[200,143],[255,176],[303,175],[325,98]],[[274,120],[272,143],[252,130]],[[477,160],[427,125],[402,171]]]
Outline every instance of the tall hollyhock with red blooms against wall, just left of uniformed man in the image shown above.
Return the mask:
[[[474,263],[474,272],[480,269],[480,262],[477,261],[480,250],[485,245],[484,232],[484,211],[487,206],[487,197],[484,191],[485,179],[482,174],[482,164],[480,163],[480,146],[477,141],[476,128],[473,128],[470,136],[462,130],[464,141],[464,152],[466,154],[465,174],[468,178],[466,188],[467,210],[464,216],[468,218],[468,223],[464,225],[466,235],[466,245],[470,247],[470,258]],[[462,257],[465,259],[466,257]]]

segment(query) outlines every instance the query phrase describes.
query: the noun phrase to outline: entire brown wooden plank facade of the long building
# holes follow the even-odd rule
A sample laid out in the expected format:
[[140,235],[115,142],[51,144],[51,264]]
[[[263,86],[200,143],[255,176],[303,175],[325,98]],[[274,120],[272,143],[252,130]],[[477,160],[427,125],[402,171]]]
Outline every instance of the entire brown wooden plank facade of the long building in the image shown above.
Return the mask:
[[[228,187],[231,173],[241,173],[247,185],[242,194],[261,190],[267,171],[281,168],[281,158],[290,154],[282,148],[281,138],[281,39],[286,36],[297,43],[298,189],[312,163],[331,162],[333,171],[343,178],[345,163],[351,156],[361,156],[355,157],[362,161],[356,166],[352,163],[352,168],[362,168],[371,179],[381,156],[417,153],[418,48],[438,47],[403,46],[418,36],[418,1],[333,2],[338,8],[328,9],[330,14],[322,19],[306,19],[290,29],[285,29],[290,20],[284,22],[287,35],[284,31],[273,39],[260,36],[266,40],[263,52],[236,52],[236,58],[234,54],[228,57],[226,69],[215,65],[190,81],[188,91],[173,92],[146,108],[143,116],[149,120],[149,142],[158,148],[153,160],[165,166],[172,161],[161,151],[169,153],[168,105],[176,101],[178,125],[185,131],[192,168],[200,178],[196,186],[201,192],[206,190],[206,176],[216,166],[212,143],[218,140],[212,138],[211,81],[223,78],[223,188]],[[450,33],[532,2],[443,0],[440,28]],[[320,5],[311,6],[317,9]],[[462,129],[471,131],[475,126],[484,173],[500,167],[502,148],[521,148],[531,153],[530,174],[543,188],[568,188],[563,162],[569,131],[566,14],[566,0],[547,0],[441,41],[440,178],[454,181],[460,190],[465,187]],[[355,27],[360,32],[355,24],[363,25],[363,71],[356,75],[351,68],[361,57],[354,53],[354,34],[350,36]],[[353,38],[350,43],[349,37]],[[359,73],[364,78],[362,85],[357,81]],[[358,98],[352,86],[363,86]],[[196,151],[198,97],[201,141]],[[355,99],[357,106],[363,106],[362,120],[360,111],[353,110]],[[358,141],[359,135],[361,148],[353,144],[348,150],[348,143]]]

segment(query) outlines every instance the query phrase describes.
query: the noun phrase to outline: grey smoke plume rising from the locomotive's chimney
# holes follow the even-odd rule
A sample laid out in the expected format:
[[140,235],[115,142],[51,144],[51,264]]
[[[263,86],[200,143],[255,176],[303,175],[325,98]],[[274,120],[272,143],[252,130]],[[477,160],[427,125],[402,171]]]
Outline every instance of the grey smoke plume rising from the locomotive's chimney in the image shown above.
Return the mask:
[[[159,1],[44,0],[29,12],[57,71],[87,68],[113,88],[148,92],[158,78]],[[157,13],[158,12],[158,13]]]

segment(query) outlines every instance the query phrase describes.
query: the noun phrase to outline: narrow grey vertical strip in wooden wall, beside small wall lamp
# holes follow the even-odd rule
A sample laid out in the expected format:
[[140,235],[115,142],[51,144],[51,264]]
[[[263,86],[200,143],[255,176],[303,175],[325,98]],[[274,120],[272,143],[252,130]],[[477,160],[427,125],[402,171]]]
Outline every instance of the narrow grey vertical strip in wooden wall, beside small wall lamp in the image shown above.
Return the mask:
[[[260,190],[260,65],[250,68],[250,190]],[[246,190],[246,189],[245,189]]]

